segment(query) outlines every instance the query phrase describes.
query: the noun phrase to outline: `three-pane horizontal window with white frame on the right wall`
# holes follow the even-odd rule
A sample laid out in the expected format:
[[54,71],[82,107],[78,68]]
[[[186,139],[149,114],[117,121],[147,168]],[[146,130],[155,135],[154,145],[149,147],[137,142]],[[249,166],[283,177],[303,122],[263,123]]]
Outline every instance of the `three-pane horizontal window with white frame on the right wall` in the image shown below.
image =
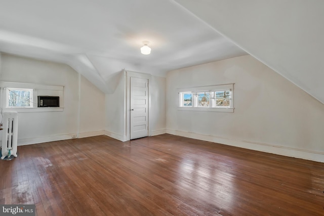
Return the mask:
[[233,85],[179,89],[179,110],[233,112]]

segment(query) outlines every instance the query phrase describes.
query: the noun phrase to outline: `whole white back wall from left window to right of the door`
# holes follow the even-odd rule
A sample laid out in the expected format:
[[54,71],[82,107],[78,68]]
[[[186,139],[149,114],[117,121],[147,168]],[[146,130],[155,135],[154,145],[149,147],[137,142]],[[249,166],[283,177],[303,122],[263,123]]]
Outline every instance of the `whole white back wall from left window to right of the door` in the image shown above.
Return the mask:
[[[0,81],[64,86],[63,111],[19,112],[18,145],[102,134],[126,140],[124,71],[116,77],[116,90],[109,95],[65,64],[9,54],[0,55],[0,77]],[[150,135],[163,134],[166,129],[166,78],[152,76],[149,85]]]

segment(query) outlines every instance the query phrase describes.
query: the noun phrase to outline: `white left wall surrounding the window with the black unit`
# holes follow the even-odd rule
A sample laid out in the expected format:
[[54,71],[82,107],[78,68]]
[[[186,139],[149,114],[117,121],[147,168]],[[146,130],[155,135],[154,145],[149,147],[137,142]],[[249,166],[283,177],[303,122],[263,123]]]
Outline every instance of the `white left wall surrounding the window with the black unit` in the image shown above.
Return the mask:
[[[103,134],[104,110],[94,109],[93,98],[103,101],[104,94],[85,78],[79,77],[71,67],[8,54],[1,54],[1,57],[1,81],[64,86],[63,111],[18,114],[18,145],[70,139],[79,132],[82,132],[83,136],[94,131],[101,131]],[[89,97],[89,93],[93,95]],[[82,105],[80,110],[79,105]],[[90,120],[89,115],[83,115],[87,111],[94,113],[92,119],[97,122]]]

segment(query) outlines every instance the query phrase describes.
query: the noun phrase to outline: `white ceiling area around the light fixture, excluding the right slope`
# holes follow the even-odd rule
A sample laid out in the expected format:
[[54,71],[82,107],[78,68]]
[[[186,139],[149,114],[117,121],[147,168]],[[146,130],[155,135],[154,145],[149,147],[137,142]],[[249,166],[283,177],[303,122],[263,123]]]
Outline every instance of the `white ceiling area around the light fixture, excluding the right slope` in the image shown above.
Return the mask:
[[172,0],[0,0],[0,52],[66,63],[105,93],[124,68],[165,76],[247,54]]

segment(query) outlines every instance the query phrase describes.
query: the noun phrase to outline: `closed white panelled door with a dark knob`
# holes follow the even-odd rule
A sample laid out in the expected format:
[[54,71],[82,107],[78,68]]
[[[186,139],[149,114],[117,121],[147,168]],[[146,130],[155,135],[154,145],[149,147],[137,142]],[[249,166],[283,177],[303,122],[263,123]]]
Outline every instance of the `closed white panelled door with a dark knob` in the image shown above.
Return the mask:
[[131,77],[131,140],[148,136],[148,79]]

